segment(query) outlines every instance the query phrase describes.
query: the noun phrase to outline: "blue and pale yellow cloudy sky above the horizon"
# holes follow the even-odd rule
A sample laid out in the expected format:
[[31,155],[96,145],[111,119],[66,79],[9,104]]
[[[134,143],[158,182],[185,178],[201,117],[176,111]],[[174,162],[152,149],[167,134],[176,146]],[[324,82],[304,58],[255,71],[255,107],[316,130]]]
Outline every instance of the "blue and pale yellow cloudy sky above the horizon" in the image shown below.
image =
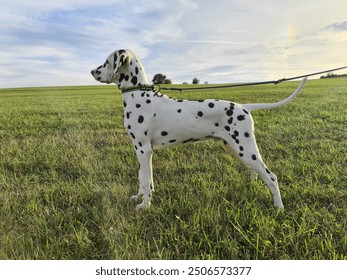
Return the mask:
[[[0,88],[96,85],[117,49],[148,79],[255,82],[347,65],[345,0],[0,0]],[[339,74],[339,72],[337,73]]]

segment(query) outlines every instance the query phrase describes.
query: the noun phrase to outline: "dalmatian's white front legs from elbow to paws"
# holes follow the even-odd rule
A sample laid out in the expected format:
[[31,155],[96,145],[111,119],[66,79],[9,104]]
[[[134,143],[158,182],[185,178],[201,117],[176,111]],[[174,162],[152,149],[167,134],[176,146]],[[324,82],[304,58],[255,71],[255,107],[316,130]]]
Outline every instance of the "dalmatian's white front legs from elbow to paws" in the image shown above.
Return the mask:
[[131,197],[131,200],[137,200],[142,197],[142,203],[136,206],[136,211],[151,205],[151,195],[153,187],[152,171],[152,149],[137,151],[137,159],[140,164],[139,168],[139,192]]

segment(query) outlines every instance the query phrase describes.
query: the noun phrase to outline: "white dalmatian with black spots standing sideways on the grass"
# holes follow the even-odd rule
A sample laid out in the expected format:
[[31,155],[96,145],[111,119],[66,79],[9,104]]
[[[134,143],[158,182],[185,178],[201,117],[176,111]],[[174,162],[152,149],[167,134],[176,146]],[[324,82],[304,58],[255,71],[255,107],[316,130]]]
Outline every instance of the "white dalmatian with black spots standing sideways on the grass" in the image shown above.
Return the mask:
[[277,177],[264,164],[254,137],[251,112],[285,105],[303,88],[307,78],[288,98],[269,104],[237,104],[206,99],[177,100],[148,85],[139,57],[130,50],[111,53],[104,64],[91,71],[101,83],[115,83],[122,91],[124,126],[139,161],[139,191],[131,197],[142,199],[136,210],[149,207],[154,191],[152,155],[156,148],[207,139],[221,139],[228,152],[260,175],[273,196],[274,206],[283,209]]

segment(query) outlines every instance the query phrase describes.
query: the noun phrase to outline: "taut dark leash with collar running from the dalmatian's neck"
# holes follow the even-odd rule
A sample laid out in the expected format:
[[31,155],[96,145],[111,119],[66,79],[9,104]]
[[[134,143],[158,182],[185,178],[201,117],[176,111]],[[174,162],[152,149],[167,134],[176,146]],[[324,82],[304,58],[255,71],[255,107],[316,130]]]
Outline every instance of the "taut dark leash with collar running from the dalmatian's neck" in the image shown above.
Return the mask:
[[320,72],[314,72],[310,74],[305,74],[305,75],[300,75],[300,76],[295,76],[295,77],[290,77],[290,78],[283,78],[279,80],[273,80],[273,81],[265,81],[265,82],[254,82],[254,83],[240,83],[240,84],[224,84],[220,86],[204,86],[204,87],[189,87],[189,88],[177,88],[177,87],[162,87],[160,85],[138,85],[134,87],[128,87],[124,90],[122,90],[122,93],[126,93],[129,91],[134,91],[134,90],[143,90],[143,91],[153,91],[153,92],[159,92],[160,90],[171,90],[171,91],[184,91],[184,90],[206,90],[206,89],[220,89],[220,88],[233,88],[233,87],[246,87],[246,86],[258,86],[258,85],[266,85],[266,84],[280,84],[283,82],[287,81],[292,81],[300,78],[305,78],[305,77],[311,77],[311,76],[316,76],[332,71],[338,71],[342,69],[346,69],[347,66],[339,67],[339,68],[334,68],[334,69],[329,69],[329,70],[324,70]]

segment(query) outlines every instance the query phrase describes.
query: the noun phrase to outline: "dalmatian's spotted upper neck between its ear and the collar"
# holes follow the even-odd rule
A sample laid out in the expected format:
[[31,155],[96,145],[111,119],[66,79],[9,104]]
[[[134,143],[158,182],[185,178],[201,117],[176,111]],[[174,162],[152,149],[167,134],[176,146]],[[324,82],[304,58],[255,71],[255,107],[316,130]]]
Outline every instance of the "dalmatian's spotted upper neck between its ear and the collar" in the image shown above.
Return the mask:
[[116,84],[120,90],[148,84],[145,69],[137,57],[130,58],[117,73]]

